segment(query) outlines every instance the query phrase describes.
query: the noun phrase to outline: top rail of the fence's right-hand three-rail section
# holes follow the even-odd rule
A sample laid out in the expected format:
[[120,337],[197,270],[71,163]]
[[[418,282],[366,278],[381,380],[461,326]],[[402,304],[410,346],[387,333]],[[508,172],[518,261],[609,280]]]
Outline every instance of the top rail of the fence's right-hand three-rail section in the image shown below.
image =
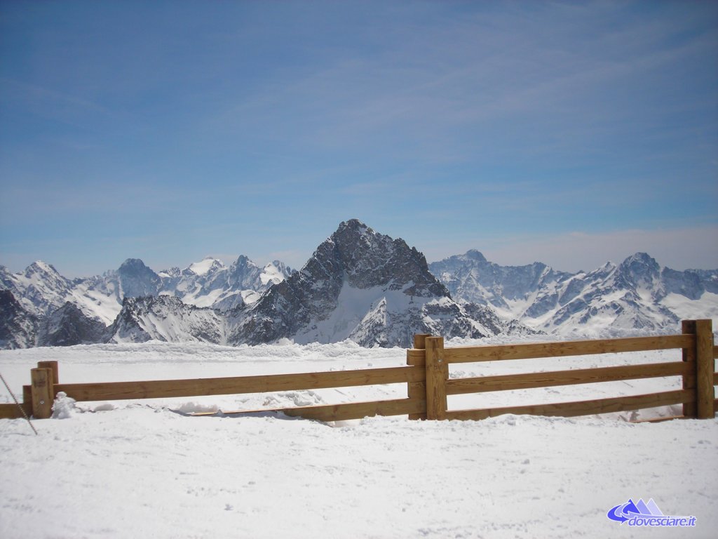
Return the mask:
[[651,350],[668,350],[694,346],[694,335],[671,335],[631,338],[608,338],[595,341],[566,341],[534,344],[502,344],[447,348],[447,363],[472,363],[505,359],[538,359],[546,357],[587,356]]

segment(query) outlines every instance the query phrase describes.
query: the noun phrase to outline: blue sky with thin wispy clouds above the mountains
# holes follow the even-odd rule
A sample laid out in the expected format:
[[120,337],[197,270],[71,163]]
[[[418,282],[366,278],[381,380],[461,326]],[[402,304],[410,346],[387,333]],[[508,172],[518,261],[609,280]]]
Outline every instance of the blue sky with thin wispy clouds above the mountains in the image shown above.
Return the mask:
[[718,267],[718,4],[0,3],[0,264]]

